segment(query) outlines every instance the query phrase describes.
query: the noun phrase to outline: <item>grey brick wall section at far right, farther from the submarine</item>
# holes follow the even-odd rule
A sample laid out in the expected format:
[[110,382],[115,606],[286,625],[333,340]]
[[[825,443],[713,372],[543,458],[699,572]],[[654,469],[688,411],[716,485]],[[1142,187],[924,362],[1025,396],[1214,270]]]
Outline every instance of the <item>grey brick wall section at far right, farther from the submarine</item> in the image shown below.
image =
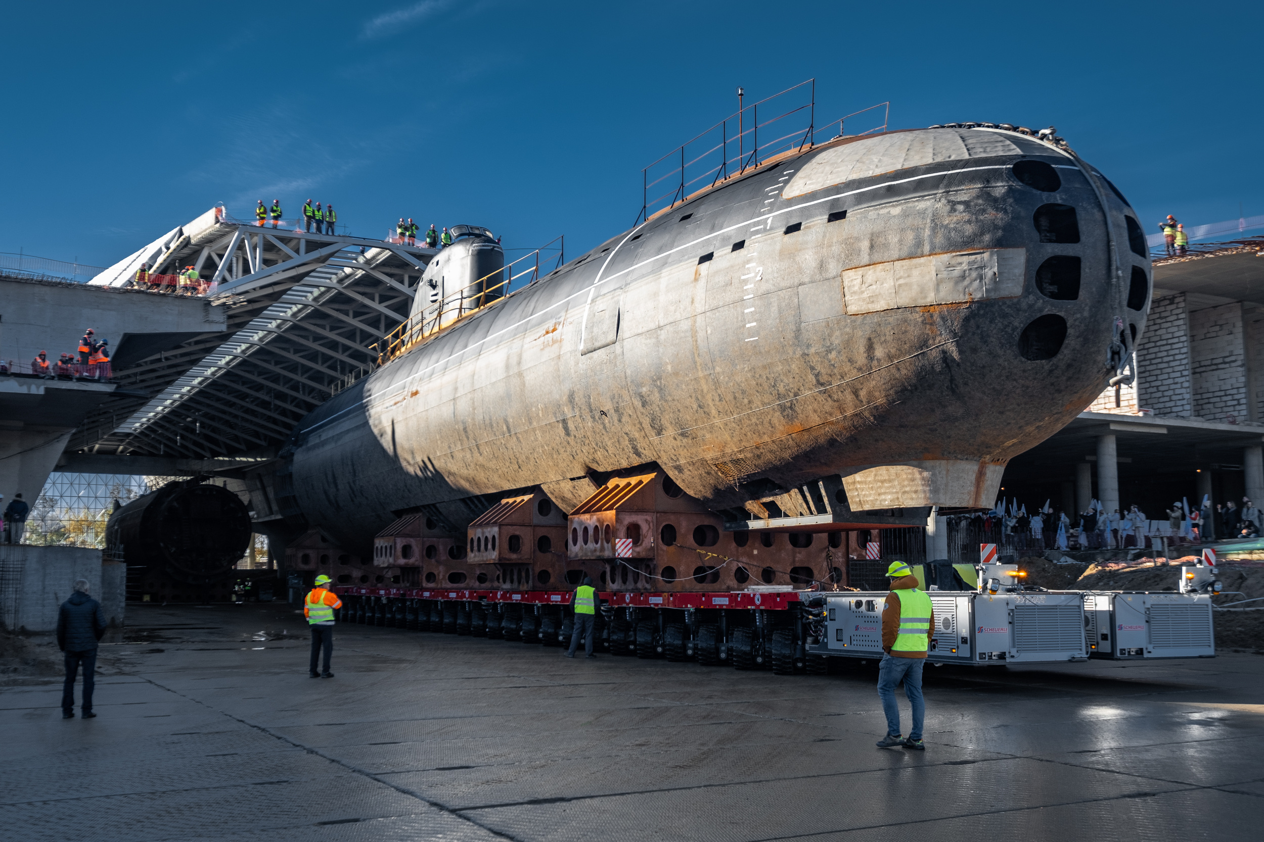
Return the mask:
[[1243,304],[1189,313],[1193,414],[1213,422],[1249,422]]

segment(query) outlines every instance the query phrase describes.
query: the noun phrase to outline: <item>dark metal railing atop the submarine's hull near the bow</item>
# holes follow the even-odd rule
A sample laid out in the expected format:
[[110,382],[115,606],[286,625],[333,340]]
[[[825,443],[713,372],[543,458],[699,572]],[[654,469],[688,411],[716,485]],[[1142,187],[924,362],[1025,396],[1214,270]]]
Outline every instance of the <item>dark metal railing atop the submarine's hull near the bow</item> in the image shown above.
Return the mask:
[[[738,88],[736,114],[641,170],[641,211],[633,225],[784,153],[801,151],[819,140],[841,138],[848,119],[884,109],[881,125],[856,134],[886,131],[891,112],[891,104],[881,102],[818,126],[814,78],[752,105],[742,105],[743,97],[742,88]],[[762,122],[761,106],[766,117]],[[771,117],[767,116],[770,109]]]

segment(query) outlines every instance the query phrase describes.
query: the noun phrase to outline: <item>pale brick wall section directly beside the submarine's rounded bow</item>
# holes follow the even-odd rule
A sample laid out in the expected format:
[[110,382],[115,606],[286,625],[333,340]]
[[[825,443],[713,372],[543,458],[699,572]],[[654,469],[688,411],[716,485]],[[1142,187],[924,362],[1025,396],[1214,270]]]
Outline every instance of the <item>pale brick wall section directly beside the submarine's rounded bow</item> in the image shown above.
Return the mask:
[[[1155,415],[1188,418],[1193,414],[1189,379],[1189,327],[1184,293],[1155,298],[1136,347],[1140,408]],[[1114,390],[1109,390],[1115,404]],[[1101,398],[1098,398],[1101,400]],[[1097,401],[1093,401],[1096,405]]]

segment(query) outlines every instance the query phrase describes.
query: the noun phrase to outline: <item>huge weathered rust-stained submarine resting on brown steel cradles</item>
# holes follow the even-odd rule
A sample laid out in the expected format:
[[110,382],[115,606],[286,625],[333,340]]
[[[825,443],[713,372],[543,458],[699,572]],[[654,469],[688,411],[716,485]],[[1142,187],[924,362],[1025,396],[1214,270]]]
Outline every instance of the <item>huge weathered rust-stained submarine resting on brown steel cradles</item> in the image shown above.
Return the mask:
[[[349,547],[392,513],[512,489],[570,510],[586,477],[646,463],[717,510],[827,476],[853,510],[991,505],[1006,462],[1140,338],[1135,216],[1064,144],[1002,129],[787,154],[317,408],[292,439],[296,502]],[[503,260],[489,235],[464,241],[427,268],[413,318],[463,254],[471,278]]]

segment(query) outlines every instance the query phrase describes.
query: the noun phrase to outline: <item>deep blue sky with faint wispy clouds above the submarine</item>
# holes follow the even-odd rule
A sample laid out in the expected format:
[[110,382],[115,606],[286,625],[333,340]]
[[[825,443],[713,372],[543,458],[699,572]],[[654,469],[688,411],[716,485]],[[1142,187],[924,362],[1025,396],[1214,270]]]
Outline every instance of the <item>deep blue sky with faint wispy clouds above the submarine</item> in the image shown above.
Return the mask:
[[[1054,124],[1141,213],[1264,213],[1264,4],[6,4],[0,251],[107,265],[216,202],[568,252],[641,168],[817,78],[818,121]],[[1202,14],[1203,11],[1208,14]],[[1254,59],[1254,61],[1253,61]]]

